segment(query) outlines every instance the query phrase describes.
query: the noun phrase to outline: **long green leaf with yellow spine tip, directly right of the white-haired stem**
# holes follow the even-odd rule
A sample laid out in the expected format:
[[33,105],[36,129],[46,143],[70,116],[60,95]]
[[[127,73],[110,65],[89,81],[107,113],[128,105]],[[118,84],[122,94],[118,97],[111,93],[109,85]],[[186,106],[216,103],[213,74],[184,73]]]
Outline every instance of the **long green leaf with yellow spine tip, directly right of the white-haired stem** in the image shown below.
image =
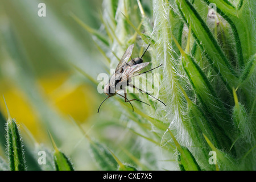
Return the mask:
[[212,116],[211,119],[213,120],[212,125],[214,127],[214,132],[216,133],[216,136],[218,136],[218,140],[222,141],[221,146],[229,151],[232,142],[225,134],[224,130],[225,127],[229,128],[229,126],[226,126],[227,121],[230,121],[228,112],[225,110],[225,107],[221,101],[217,98],[212,85],[210,84],[208,78],[204,75],[204,72],[201,70],[199,65],[196,64],[191,56],[187,55],[187,53],[183,51],[174,37],[173,39],[182,55],[181,61],[183,68],[187,73],[188,79],[191,82],[197,97],[203,105],[205,113]]

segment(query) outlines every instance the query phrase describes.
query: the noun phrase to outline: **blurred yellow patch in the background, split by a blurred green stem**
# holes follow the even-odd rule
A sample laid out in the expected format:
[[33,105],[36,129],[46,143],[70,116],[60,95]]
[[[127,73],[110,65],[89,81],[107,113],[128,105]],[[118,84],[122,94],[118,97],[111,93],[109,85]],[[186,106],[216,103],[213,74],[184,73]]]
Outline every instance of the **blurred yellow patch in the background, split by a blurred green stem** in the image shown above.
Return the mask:
[[[96,113],[93,107],[96,96],[91,85],[85,83],[72,84],[67,81],[70,73],[57,73],[52,77],[39,78],[38,85],[46,100],[51,102],[53,109],[59,110],[65,117],[72,117],[78,122],[85,122],[90,115]],[[29,103],[26,94],[15,84],[7,80],[0,80],[1,93],[5,97],[11,117],[18,124],[23,123],[39,142],[46,142],[45,133],[42,132],[40,117]],[[7,111],[3,98],[1,98],[1,112],[7,118]],[[97,104],[96,104],[97,105]]]

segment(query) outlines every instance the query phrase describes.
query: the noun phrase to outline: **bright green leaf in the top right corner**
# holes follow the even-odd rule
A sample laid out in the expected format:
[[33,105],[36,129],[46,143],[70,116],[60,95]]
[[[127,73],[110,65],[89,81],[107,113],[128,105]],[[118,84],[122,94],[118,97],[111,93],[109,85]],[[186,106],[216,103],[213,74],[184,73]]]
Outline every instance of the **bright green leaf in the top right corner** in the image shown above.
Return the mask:
[[216,4],[217,13],[219,13],[230,24],[234,39],[236,42],[236,49],[238,61],[240,65],[246,63],[249,57],[255,53],[255,19],[253,16],[253,1],[240,1],[238,9],[236,9],[230,2],[225,0],[204,0],[209,3]]

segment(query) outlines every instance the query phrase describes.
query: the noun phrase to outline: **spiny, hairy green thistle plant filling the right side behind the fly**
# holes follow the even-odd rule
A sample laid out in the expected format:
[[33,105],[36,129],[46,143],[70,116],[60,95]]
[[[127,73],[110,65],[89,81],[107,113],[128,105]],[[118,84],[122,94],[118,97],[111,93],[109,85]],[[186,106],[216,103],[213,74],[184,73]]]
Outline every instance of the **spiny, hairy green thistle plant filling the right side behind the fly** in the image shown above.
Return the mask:
[[104,1],[103,7],[100,30],[72,17],[93,35],[107,69],[133,43],[139,53],[151,44],[144,60],[152,68],[163,64],[156,89],[166,107],[134,102],[133,113],[116,98],[136,123],[129,129],[159,144],[181,170],[255,170],[253,3],[138,0]]

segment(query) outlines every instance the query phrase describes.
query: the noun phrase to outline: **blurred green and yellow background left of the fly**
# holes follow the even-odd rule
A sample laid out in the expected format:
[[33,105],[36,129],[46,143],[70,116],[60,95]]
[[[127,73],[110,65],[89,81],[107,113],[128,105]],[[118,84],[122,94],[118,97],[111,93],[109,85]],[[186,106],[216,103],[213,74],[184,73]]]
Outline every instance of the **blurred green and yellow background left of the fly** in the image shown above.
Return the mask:
[[[38,16],[40,2],[46,3],[46,17]],[[100,66],[102,56],[92,37],[70,13],[98,29],[101,3],[100,0],[0,1],[1,156],[5,156],[7,118],[4,96],[11,117],[20,125],[25,145],[32,143],[30,134],[24,130],[27,127],[36,142],[52,150],[49,130],[57,146],[71,156],[76,169],[97,169],[88,153],[88,141],[72,120],[79,122],[92,137],[111,139],[116,137],[111,129],[102,132],[100,127],[93,126],[100,125],[102,117],[111,120],[112,109],[105,108],[108,116],[104,111],[97,114],[105,97],[74,65],[96,79],[98,73],[106,71]]]

